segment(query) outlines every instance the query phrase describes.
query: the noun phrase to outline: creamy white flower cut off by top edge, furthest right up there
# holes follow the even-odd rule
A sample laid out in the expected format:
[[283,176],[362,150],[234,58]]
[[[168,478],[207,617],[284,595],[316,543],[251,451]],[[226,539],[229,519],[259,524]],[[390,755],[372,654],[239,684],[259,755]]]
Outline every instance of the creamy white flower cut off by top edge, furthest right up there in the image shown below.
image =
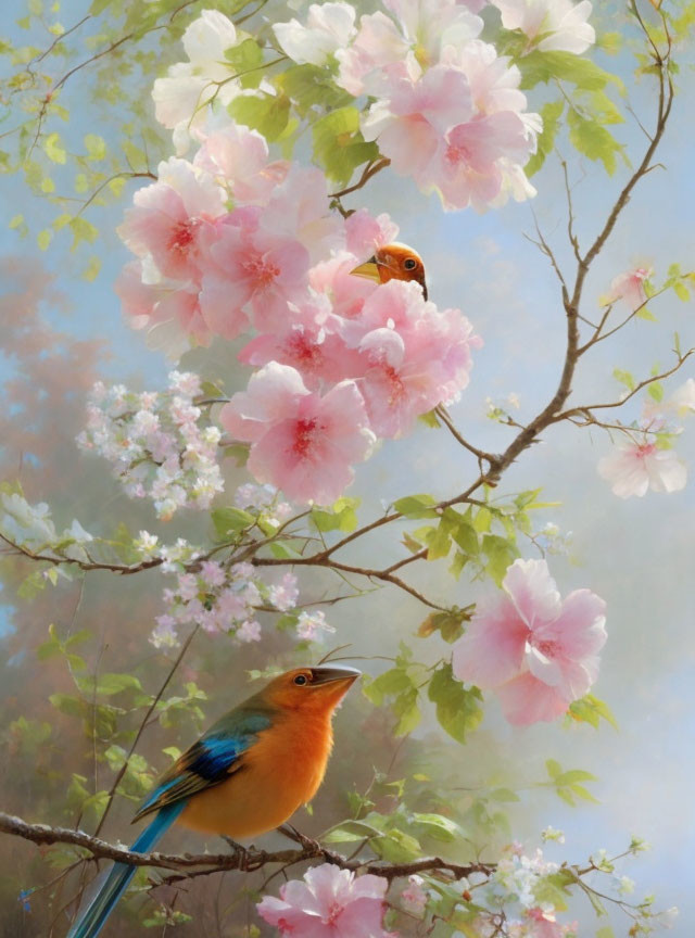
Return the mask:
[[491,0],[502,13],[505,29],[520,29],[529,39],[541,40],[535,48],[544,52],[573,52],[581,55],[596,41],[590,0]]

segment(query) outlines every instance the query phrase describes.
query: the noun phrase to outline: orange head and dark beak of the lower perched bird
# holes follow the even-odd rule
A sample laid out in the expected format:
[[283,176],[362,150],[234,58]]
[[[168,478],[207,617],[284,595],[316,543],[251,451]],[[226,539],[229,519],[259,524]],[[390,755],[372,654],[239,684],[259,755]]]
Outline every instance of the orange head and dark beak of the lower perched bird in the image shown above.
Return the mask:
[[332,713],[359,676],[354,668],[295,668],[271,681],[265,696],[282,710]]

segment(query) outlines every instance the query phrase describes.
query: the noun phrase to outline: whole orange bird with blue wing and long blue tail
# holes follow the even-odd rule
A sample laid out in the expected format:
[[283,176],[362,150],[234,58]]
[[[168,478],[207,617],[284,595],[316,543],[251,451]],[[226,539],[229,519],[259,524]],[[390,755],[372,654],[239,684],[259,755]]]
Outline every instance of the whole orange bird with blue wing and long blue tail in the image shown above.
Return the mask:
[[[233,838],[255,837],[314,797],[332,746],[333,711],[359,672],[300,668],[230,710],[176,760],[140,806],[154,820],[130,848],[150,851],[174,823]],[[67,938],[94,938],[135,874],[115,863]]]

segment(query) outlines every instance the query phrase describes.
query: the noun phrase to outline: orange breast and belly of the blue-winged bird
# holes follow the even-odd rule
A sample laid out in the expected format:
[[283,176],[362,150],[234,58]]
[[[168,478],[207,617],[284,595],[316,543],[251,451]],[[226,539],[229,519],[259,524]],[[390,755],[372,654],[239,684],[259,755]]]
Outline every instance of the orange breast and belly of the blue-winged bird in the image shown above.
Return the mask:
[[275,829],[314,797],[331,745],[330,718],[290,714],[258,734],[227,782],[194,795],[179,823],[233,839]]

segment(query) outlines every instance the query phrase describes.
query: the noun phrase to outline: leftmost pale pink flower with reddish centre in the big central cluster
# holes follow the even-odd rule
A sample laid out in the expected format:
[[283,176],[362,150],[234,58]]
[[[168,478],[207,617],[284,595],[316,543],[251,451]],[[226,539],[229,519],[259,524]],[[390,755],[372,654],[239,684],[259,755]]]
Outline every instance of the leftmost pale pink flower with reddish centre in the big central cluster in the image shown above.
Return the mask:
[[224,214],[224,190],[186,160],[160,163],[159,179],[139,189],[118,233],[141,258],[151,256],[164,277],[199,277],[200,233]]

